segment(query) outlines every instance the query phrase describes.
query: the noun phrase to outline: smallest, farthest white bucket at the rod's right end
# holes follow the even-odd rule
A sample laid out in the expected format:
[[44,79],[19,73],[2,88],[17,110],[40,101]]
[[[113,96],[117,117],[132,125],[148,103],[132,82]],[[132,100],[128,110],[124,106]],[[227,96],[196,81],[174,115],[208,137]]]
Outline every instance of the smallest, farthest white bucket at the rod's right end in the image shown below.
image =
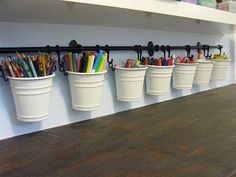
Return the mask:
[[211,80],[225,80],[229,68],[230,60],[214,60],[214,67]]

